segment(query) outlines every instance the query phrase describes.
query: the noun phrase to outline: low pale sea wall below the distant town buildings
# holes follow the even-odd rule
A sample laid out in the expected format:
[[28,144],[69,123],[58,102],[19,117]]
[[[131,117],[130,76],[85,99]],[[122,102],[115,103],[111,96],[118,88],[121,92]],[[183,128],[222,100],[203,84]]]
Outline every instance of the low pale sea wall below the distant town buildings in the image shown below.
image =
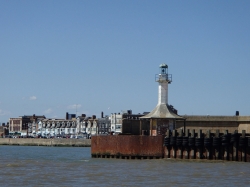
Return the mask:
[[90,147],[90,139],[0,138],[0,145]]

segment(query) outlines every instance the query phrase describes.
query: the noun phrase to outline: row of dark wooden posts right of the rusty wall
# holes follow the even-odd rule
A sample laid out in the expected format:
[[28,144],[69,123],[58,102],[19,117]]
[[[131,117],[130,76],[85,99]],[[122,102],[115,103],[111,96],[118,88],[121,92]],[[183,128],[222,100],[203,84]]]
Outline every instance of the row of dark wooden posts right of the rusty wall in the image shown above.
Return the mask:
[[244,130],[242,133],[169,130],[164,137],[164,157],[250,162],[250,134]]

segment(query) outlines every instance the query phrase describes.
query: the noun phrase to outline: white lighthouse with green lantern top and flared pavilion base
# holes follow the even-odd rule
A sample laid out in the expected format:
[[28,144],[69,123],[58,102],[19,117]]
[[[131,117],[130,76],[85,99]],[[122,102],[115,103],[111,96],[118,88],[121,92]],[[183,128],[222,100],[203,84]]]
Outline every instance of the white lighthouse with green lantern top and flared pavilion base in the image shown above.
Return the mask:
[[168,73],[168,65],[160,64],[159,69],[159,74],[155,75],[155,81],[158,82],[158,103],[149,114],[140,117],[142,128],[149,125],[151,136],[163,135],[167,130],[175,129],[177,120],[185,120],[168,103],[168,85],[172,82],[172,74]]

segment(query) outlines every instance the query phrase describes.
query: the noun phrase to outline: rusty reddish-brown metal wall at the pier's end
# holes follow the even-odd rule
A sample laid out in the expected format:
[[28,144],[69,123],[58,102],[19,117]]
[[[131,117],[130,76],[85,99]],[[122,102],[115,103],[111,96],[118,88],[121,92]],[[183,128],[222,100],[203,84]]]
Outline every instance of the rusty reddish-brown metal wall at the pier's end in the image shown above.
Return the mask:
[[92,136],[91,154],[163,157],[163,136]]

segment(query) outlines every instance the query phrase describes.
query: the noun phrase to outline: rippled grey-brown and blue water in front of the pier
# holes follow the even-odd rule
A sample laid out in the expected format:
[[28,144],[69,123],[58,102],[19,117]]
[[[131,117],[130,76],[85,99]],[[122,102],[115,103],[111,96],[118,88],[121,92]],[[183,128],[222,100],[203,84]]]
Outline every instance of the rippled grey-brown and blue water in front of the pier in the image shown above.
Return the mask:
[[250,163],[91,158],[90,148],[0,146],[0,186],[250,186]]

